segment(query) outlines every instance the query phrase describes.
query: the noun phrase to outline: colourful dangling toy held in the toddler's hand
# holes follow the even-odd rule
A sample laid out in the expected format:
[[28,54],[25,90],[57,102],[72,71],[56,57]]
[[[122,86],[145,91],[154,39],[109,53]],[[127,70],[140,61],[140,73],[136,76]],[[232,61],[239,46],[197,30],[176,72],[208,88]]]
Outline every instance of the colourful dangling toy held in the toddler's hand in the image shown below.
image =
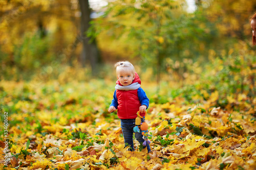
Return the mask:
[[146,112],[145,112],[145,116],[141,116],[140,115],[140,112],[138,111],[137,112],[137,115],[138,117],[136,117],[135,119],[135,127],[133,128],[134,132],[140,132],[140,129],[142,130],[141,134],[143,135],[144,137],[144,142],[143,142],[143,146],[146,145],[146,143],[150,144],[151,141],[148,140],[147,136],[151,136],[151,135],[148,135],[148,125],[147,123],[145,122],[145,116],[146,116]]

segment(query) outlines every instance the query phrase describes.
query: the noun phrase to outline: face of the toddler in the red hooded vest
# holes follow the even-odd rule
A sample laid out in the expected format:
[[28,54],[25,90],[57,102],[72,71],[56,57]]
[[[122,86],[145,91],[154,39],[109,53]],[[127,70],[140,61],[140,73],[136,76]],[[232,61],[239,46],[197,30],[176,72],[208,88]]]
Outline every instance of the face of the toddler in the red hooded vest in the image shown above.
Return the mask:
[[117,70],[117,79],[123,86],[128,86],[132,84],[134,78],[135,75],[133,74],[133,71],[129,68],[123,67]]

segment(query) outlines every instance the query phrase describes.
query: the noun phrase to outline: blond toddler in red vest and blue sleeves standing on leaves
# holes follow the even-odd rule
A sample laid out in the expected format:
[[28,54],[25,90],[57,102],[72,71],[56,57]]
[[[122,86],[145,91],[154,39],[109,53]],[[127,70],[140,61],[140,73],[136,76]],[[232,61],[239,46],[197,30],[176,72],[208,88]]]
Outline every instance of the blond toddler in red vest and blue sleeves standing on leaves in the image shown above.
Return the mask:
[[[121,129],[125,147],[130,146],[130,151],[134,151],[133,144],[133,128],[135,126],[135,118],[137,112],[144,116],[150,101],[146,93],[140,87],[140,78],[135,72],[133,64],[129,61],[117,62],[115,64],[117,81],[113,100],[111,102],[109,112],[114,112],[117,109],[117,116],[121,120]],[[144,142],[143,135],[135,132],[135,137],[140,144]],[[151,152],[150,145],[146,143],[147,152]],[[145,148],[143,147],[143,148]]]

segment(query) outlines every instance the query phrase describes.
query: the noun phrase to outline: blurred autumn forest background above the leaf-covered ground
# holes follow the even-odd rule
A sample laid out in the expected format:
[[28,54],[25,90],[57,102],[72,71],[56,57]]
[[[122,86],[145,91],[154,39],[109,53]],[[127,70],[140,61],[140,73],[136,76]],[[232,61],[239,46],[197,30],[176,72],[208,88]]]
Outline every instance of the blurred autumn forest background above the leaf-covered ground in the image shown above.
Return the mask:
[[255,94],[256,0],[195,0],[190,8],[185,0],[1,0],[1,79],[115,79],[113,64],[129,60],[157,90],[161,81],[200,80],[199,90]]

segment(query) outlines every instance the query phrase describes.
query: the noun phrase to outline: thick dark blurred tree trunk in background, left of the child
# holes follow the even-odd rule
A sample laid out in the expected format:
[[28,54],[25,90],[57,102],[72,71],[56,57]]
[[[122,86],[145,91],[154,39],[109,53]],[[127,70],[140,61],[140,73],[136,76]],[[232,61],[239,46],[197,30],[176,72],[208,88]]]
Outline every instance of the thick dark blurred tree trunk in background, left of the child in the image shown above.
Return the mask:
[[80,62],[83,67],[86,66],[86,62],[89,61],[92,74],[97,73],[97,64],[99,63],[99,55],[96,41],[90,42],[90,37],[86,35],[86,32],[90,28],[90,14],[91,9],[88,0],[79,0],[81,10],[81,37],[82,37],[82,53],[80,56]]

